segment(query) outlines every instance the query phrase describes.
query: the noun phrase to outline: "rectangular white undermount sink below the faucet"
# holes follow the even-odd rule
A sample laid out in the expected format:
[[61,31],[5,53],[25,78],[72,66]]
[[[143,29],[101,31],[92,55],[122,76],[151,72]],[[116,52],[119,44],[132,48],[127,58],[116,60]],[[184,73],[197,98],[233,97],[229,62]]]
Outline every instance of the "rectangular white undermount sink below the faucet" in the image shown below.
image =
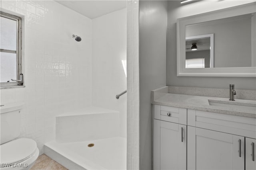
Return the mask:
[[256,104],[247,104],[242,102],[208,100],[210,106],[228,107],[233,109],[256,111]]

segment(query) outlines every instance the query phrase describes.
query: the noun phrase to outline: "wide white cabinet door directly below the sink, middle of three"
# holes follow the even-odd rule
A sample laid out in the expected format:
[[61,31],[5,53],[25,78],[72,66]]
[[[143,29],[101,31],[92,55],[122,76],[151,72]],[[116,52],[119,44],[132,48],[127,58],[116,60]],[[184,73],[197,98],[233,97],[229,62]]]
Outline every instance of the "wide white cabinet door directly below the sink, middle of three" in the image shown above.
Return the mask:
[[244,137],[188,126],[188,170],[243,170]]

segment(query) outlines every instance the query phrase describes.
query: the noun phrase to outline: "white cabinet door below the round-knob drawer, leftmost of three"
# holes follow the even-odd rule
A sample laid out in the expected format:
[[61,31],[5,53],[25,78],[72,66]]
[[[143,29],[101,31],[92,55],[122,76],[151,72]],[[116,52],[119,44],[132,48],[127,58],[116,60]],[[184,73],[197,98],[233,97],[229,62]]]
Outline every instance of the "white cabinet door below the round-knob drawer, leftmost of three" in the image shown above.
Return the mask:
[[186,170],[186,125],[154,119],[154,169]]

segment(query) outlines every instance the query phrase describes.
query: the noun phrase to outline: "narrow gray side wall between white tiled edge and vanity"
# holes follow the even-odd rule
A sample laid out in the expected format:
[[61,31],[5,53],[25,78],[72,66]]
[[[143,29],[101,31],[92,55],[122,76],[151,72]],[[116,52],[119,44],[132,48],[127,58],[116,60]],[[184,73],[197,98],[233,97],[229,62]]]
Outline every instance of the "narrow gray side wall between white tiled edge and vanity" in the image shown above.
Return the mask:
[[150,91],[166,85],[167,1],[140,5],[140,169],[152,169]]

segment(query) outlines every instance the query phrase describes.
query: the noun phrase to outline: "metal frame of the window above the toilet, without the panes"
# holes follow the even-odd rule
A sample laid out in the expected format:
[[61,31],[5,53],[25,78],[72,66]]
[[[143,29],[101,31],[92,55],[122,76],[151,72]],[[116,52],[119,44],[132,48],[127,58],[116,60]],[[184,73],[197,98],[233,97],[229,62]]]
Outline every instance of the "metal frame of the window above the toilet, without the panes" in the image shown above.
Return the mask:
[[[16,51],[8,49],[0,49],[0,52],[4,53],[16,53],[16,80],[20,79],[20,74],[22,74],[22,18],[6,12],[0,12],[0,16],[16,21]],[[10,81],[11,81],[10,77]],[[18,82],[0,82],[1,88],[8,86],[22,86]]]

